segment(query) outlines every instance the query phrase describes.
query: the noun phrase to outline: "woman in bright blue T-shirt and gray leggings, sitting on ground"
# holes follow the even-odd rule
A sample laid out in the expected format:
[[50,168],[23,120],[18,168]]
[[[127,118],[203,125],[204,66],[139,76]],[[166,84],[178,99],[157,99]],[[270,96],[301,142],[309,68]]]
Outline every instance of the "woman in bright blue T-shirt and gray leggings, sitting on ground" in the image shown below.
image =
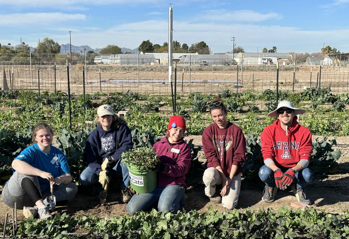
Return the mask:
[[[40,123],[33,129],[34,145],[24,149],[12,161],[12,177],[2,191],[2,201],[9,207],[23,208],[23,215],[46,219],[51,216],[48,207],[51,196],[50,185],[56,202],[65,203],[73,199],[77,192],[67,157],[51,145],[53,129]],[[33,207],[34,206],[34,207]]]

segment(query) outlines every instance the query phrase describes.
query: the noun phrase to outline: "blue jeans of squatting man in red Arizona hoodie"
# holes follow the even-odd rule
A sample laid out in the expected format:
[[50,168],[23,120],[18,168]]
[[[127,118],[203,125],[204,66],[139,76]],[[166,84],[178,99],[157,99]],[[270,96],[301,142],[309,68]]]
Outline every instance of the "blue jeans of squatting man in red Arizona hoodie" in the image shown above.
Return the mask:
[[[286,172],[288,168],[282,167],[282,172]],[[267,165],[263,165],[259,169],[259,178],[265,182],[265,184],[269,187],[274,187],[275,180],[274,180],[274,172],[269,169]],[[297,184],[298,189],[304,189],[305,186],[310,184],[311,180],[313,179],[313,173],[310,169],[307,167],[305,169],[302,169],[298,172],[296,172],[296,178],[294,180],[294,183]]]

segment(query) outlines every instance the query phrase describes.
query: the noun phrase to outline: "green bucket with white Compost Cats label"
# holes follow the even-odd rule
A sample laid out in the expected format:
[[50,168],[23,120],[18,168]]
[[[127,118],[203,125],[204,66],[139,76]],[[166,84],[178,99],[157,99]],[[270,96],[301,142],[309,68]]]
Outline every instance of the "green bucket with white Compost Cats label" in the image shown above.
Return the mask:
[[156,171],[139,170],[137,167],[127,165],[131,187],[137,193],[150,193],[156,188]]

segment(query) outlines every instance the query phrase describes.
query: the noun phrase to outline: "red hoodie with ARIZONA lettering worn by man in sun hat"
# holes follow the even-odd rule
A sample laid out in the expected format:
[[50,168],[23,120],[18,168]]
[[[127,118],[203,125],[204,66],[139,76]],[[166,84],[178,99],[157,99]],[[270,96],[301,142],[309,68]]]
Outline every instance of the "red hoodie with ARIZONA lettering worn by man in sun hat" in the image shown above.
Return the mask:
[[273,159],[278,167],[294,167],[301,159],[309,160],[313,152],[310,130],[299,125],[296,116],[288,128],[288,135],[277,119],[263,130],[261,142],[263,159]]

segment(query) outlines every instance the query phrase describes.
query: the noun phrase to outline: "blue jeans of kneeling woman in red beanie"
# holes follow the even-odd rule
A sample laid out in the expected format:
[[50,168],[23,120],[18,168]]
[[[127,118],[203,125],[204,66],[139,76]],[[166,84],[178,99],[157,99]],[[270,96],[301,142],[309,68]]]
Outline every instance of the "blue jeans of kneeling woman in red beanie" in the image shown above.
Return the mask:
[[184,204],[184,192],[184,187],[180,185],[156,187],[151,193],[133,195],[131,201],[127,203],[126,210],[129,214],[134,215],[158,202],[159,211],[177,212]]

